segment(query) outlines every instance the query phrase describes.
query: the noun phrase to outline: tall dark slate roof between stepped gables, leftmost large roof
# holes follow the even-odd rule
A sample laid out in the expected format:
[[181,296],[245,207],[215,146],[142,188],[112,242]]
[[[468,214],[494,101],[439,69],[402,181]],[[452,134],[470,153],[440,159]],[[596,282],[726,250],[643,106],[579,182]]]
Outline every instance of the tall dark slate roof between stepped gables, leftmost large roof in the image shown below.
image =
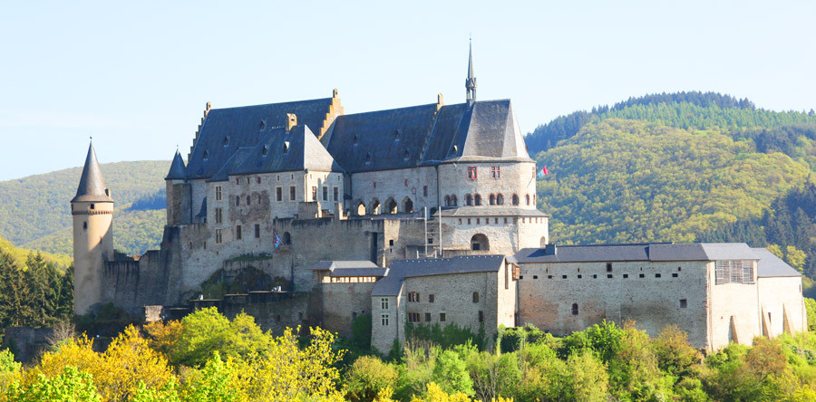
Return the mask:
[[294,113],[298,124],[320,128],[331,104],[325,98],[209,110],[189,157],[188,177],[212,177],[238,148],[254,147],[269,130],[285,128],[287,113]]

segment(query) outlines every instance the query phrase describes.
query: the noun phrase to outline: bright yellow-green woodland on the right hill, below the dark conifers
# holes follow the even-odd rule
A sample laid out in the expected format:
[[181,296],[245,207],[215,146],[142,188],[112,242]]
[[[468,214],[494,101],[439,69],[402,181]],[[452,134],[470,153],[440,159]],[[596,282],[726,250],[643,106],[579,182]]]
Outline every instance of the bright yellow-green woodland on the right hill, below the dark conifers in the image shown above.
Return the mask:
[[539,207],[562,243],[694,241],[705,230],[760,217],[809,169],[752,152],[716,130],[604,120],[539,155]]

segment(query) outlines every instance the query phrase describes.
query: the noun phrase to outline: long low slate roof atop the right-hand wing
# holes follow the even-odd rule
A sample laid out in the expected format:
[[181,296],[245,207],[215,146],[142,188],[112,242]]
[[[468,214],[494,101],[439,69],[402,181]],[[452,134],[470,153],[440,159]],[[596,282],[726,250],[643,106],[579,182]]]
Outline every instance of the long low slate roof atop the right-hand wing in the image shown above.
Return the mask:
[[556,245],[521,249],[515,258],[519,263],[759,259],[744,243]]

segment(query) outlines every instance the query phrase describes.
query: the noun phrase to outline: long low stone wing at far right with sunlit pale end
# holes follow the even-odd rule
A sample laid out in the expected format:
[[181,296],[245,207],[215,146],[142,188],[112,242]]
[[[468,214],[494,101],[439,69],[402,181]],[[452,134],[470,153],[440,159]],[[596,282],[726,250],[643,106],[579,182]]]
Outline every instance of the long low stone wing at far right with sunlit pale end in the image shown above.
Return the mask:
[[550,244],[515,258],[520,325],[559,336],[633,320],[652,336],[676,325],[712,350],[807,326],[801,273],[744,243]]

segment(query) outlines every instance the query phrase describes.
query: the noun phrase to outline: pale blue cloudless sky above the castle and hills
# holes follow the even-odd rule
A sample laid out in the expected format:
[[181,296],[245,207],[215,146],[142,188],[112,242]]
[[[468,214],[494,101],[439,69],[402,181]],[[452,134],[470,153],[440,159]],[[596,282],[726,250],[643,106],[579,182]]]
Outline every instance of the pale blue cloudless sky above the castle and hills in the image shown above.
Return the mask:
[[[16,4],[15,4],[16,3]],[[204,105],[481,100],[521,129],[662,91],[816,109],[816,2],[4,2],[0,180],[186,155]]]

